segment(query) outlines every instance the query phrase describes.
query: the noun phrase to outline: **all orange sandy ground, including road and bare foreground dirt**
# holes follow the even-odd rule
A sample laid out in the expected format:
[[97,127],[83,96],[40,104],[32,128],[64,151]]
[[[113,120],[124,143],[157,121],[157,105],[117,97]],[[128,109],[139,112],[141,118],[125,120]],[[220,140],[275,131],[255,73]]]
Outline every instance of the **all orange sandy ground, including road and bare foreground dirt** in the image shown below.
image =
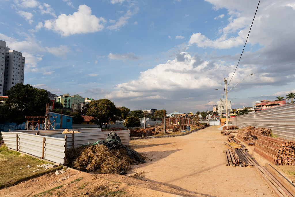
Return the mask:
[[[131,147],[148,159],[131,166],[127,175],[68,169],[61,175],[49,173],[4,188],[0,196],[34,196],[60,185],[43,196],[100,196],[104,189],[125,191],[123,196],[275,196],[254,168],[225,165],[222,151],[228,136],[216,128],[186,136],[131,140]],[[266,163],[257,159],[260,165]]]

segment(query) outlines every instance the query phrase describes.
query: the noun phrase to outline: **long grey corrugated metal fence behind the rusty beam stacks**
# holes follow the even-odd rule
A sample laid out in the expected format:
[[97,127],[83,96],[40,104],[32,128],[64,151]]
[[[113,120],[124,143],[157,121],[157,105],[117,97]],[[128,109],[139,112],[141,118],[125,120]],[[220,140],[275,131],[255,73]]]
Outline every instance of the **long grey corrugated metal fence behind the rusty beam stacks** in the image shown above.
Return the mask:
[[271,129],[281,138],[295,140],[295,103],[230,118],[238,128],[255,126]]

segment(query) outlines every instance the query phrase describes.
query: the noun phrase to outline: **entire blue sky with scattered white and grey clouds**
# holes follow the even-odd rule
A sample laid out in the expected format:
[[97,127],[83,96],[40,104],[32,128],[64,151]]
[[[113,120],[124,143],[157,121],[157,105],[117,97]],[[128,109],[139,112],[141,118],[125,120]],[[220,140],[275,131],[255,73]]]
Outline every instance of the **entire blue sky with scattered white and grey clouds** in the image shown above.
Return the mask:
[[196,113],[225,100],[223,78],[255,73],[227,94],[252,107],[295,92],[295,3],[258,2],[0,0],[0,39],[25,57],[24,84],[56,95]]

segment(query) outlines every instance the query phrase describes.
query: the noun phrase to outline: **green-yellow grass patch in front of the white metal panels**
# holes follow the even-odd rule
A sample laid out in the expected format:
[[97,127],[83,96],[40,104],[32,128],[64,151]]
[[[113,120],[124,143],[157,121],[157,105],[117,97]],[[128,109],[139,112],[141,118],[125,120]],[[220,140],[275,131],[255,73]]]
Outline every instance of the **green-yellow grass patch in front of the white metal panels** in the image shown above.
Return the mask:
[[[19,152],[9,150],[6,146],[2,146],[0,148],[0,189],[15,185],[22,180],[61,170],[63,168],[62,165],[53,169],[37,167],[37,165],[45,163],[48,162],[41,161],[40,159],[26,154],[21,156]],[[30,165],[30,167],[27,167],[27,165]]]

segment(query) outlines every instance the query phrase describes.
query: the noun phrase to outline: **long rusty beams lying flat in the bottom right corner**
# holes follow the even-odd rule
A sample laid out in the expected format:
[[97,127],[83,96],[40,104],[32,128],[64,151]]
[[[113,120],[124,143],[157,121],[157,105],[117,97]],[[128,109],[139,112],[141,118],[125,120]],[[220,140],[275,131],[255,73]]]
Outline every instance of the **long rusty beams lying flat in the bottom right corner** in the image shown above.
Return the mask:
[[255,166],[255,170],[266,180],[276,196],[295,196],[295,187],[271,165]]

